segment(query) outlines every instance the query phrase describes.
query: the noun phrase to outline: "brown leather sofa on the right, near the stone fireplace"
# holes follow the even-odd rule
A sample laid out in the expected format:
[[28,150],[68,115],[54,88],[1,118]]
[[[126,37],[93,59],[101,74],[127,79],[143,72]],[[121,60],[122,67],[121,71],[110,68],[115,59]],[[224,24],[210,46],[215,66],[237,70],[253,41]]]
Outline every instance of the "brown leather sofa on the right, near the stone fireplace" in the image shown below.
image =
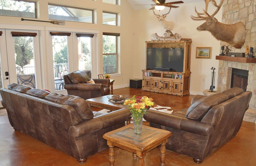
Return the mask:
[[152,127],[172,132],[167,149],[201,163],[239,131],[251,96],[252,92],[237,87],[211,96],[196,95],[189,108],[173,114],[148,110],[144,119]]

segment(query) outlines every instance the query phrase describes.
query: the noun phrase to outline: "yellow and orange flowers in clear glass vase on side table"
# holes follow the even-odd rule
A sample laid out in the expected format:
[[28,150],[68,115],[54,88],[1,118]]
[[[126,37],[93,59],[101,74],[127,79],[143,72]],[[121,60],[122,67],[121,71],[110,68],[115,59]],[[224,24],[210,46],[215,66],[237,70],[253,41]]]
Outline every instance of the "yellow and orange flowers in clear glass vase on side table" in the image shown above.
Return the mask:
[[133,127],[134,133],[140,134],[142,130],[142,118],[144,114],[147,114],[147,110],[150,106],[153,106],[155,103],[152,102],[152,98],[147,96],[133,96],[131,99],[125,100],[124,105],[127,105],[133,117]]

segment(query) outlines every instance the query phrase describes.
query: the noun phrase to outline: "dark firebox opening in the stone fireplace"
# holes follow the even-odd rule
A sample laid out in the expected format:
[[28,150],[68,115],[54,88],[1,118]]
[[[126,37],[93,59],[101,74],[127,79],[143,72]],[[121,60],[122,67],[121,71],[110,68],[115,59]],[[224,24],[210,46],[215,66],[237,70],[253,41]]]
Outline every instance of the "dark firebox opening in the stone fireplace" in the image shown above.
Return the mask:
[[240,87],[244,89],[245,92],[248,85],[248,72],[248,70],[232,68],[230,87]]

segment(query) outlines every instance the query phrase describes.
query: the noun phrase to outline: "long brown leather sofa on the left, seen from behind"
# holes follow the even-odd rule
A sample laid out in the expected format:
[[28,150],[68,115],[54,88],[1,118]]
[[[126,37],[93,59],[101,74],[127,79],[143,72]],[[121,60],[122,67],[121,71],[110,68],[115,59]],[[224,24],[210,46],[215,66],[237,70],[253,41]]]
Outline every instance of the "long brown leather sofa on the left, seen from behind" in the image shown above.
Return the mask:
[[107,149],[103,134],[125,125],[129,109],[108,114],[92,112],[84,99],[11,84],[0,89],[10,124],[47,145],[86,162]]

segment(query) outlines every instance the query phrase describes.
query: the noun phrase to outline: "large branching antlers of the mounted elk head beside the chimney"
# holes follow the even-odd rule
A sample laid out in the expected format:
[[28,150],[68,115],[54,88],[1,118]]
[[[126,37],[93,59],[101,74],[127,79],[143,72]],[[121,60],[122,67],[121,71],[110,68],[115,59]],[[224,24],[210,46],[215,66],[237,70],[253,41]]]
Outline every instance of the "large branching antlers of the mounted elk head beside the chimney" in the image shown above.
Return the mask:
[[[207,20],[207,19],[212,19],[214,16],[215,16],[215,14],[217,14],[217,12],[220,10],[220,7],[221,7],[221,5],[223,4],[223,1],[224,0],[221,0],[220,1],[220,4],[219,5],[217,5],[217,3],[216,3],[216,1],[215,0],[204,0],[205,1],[205,10],[203,9],[203,13],[199,13],[199,12],[197,12],[196,11],[196,7],[195,7],[195,11],[196,11],[196,14],[197,14],[197,16],[198,17],[196,17],[196,16],[190,16],[193,20]],[[216,9],[216,11],[210,16],[210,14],[208,14],[207,13],[207,10],[208,10],[208,4],[209,4],[209,2],[212,2],[212,4],[215,6],[215,7],[217,7],[217,9]],[[202,16],[202,15],[205,15],[205,16]]]

